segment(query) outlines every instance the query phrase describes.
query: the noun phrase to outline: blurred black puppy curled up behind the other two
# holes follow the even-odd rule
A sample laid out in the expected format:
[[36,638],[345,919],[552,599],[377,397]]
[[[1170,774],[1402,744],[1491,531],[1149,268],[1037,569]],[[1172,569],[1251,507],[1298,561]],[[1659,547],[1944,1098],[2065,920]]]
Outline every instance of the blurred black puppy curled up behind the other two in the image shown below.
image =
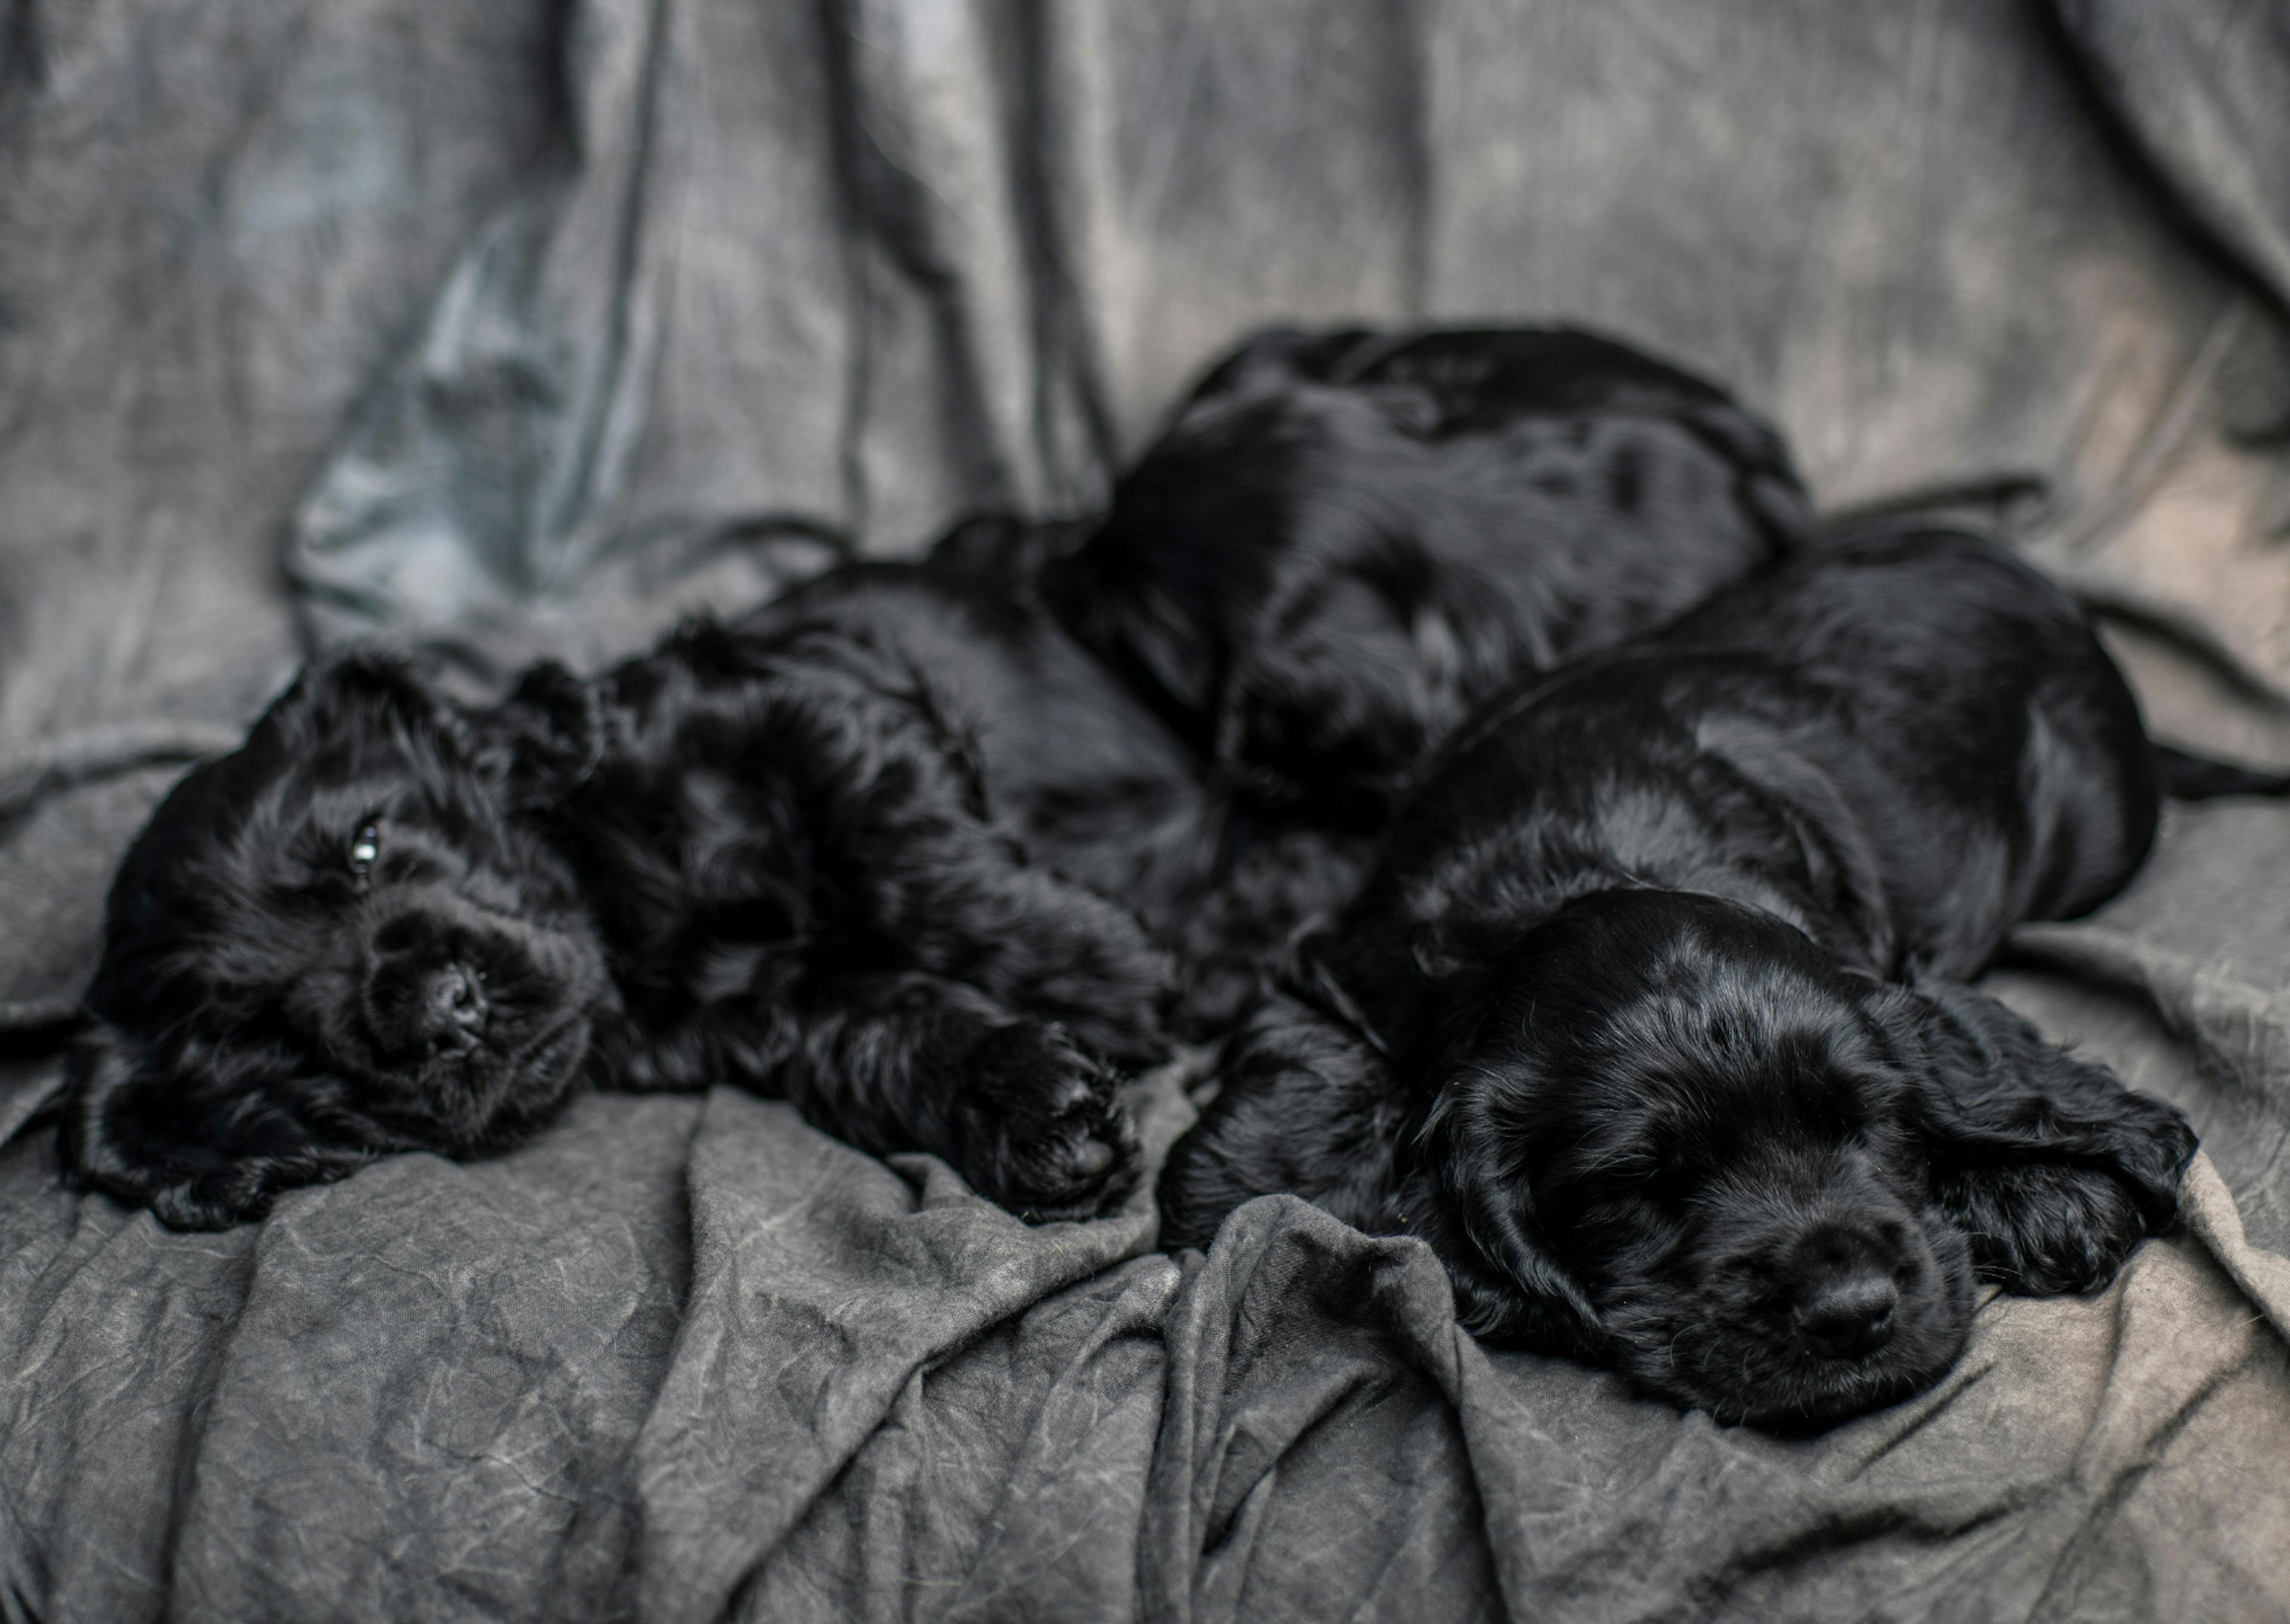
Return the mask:
[[1358,889],[1392,788],[1477,699],[1805,545],[1779,435],[1571,330],[1262,332],[1042,596],[1211,760],[1218,884],[1166,937],[1221,1033]]

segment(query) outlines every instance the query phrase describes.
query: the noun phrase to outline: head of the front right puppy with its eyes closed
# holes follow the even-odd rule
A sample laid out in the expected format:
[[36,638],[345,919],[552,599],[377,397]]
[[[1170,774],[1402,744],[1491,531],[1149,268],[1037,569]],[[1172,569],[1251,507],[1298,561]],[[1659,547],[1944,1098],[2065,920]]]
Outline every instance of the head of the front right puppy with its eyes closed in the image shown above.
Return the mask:
[[1972,1267],[1871,983],[1736,902],[1578,898],[1459,1003],[1401,1209],[1475,1331],[1720,1420],[1935,1381]]

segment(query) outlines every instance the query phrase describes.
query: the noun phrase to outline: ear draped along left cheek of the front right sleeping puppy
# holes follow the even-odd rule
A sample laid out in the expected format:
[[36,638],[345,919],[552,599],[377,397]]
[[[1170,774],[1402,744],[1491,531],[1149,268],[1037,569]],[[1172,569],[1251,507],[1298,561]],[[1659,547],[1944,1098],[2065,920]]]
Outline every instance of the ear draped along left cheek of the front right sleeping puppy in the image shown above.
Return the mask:
[[1450,1079],[1434,1102],[1399,1196],[1404,1228],[1447,1264],[1466,1331],[1596,1361],[1608,1342],[1598,1308],[1550,1251],[1534,1191],[1486,1120],[1484,1086]]

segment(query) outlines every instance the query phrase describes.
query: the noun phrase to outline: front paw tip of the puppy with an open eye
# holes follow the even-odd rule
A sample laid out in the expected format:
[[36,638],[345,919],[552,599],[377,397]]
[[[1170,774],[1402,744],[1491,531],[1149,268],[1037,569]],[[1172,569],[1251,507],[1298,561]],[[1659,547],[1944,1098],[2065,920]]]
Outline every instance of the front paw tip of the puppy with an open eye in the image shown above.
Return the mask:
[[1090,1219],[1138,1180],[1118,1079],[1053,1026],[1003,1026],[969,1058],[962,1175],[1028,1223]]

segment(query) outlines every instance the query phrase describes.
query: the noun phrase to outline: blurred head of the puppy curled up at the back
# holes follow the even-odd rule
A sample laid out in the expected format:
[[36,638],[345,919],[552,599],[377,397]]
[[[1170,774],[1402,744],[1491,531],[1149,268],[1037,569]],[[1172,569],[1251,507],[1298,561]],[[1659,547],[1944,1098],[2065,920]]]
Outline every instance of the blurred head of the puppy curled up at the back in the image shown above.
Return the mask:
[[1413,399],[1246,369],[1184,405],[1047,580],[1069,630],[1243,793],[1326,811],[1388,776],[1422,744],[1420,689],[1470,653],[1415,534]]

